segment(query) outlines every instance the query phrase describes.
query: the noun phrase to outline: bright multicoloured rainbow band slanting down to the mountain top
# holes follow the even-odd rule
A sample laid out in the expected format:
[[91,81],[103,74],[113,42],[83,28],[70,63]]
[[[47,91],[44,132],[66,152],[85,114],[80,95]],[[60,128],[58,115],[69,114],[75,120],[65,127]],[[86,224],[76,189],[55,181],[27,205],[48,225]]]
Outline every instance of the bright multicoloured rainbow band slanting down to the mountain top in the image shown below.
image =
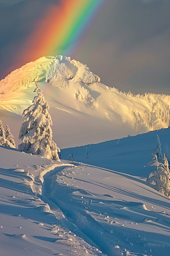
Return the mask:
[[71,46],[76,47],[105,2],[107,1],[61,0],[59,5],[51,5],[29,35],[20,60],[22,57],[33,61],[42,56],[71,55],[70,51],[74,51]]

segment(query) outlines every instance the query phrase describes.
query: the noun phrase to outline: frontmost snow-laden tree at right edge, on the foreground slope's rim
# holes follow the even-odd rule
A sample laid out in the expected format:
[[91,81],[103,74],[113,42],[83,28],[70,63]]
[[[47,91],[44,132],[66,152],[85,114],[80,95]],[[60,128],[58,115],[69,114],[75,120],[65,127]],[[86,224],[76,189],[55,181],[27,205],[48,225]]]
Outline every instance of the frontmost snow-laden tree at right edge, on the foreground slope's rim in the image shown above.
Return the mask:
[[165,196],[170,197],[170,174],[167,158],[164,155],[164,163],[158,162],[157,155],[153,155],[152,162],[148,163],[148,166],[156,166],[156,171],[151,172],[146,180],[146,183],[155,183],[154,188]]

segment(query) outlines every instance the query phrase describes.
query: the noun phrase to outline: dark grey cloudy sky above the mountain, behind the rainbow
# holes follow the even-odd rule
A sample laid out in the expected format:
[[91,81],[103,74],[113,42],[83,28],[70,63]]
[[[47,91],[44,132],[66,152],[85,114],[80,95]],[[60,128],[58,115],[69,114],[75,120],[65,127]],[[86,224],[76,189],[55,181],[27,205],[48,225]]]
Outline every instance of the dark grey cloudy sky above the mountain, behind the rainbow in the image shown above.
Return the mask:
[[[79,1],[83,3],[84,0]],[[50,52],[50,55],[71,56],[87,64],[100,76],[103,84],[123,92],[170,94],[170,1],[88,1],[98,1],[100,5],[80,20],[84,25],[74,40],[64,48],[62,44],[57,46],[53,51],[47,44],[41,55],[46,56]],[[41,24],[52,10],[59,7],[59,13],[53,13],[55,19],[51,15],[50,21],[58,24],[50,32],[59,36],[59,22],[64,15],[63,2],[73,2],[74,11],[70,9],[70,13],[73,13],[73,19],[76,18],[80,10],[74,5],[76,0],[0,0],[0,79],[42,57],[38,48],[42,42],[46,43],[53,27],[49,23],[44,27]],[[37,33],[34,42],[37,28],[42,34],[38,40]],[[33,47],[36,47],[34,51]],[[31,54],[36,49],[37,54]]]

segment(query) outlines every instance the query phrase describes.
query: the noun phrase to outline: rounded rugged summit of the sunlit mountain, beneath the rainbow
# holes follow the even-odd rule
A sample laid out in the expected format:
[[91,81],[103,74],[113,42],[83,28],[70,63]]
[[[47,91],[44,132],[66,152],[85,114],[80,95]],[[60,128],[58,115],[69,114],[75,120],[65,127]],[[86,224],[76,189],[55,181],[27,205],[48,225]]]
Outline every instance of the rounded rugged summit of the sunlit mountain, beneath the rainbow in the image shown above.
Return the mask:
[[42,81],[47,81],[59,88],[66,88],[71,79],[75,82],[83,82],[83,84],[100,82],[100,77],[79,61],[61,55],[46,56],[25,64],[2,79],[0,93],[15,92],[29,86],[32,82]]

